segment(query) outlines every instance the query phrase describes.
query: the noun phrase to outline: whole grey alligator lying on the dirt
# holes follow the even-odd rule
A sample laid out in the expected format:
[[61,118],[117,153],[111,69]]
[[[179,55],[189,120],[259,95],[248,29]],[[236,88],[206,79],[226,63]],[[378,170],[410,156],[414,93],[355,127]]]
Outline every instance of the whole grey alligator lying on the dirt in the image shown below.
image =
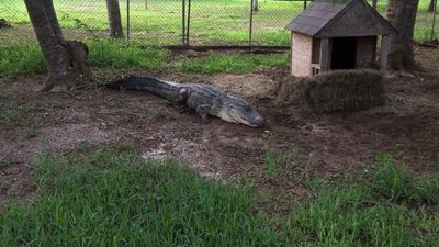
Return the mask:
[[226,122],[261,127],[263,117],[245,100],[230,96],[209,85],[177,83],[150,77],[124,76],[106,83],[110,89],[147,91],[172,101],[177,105],[195,110],[203,122],[209,115]]

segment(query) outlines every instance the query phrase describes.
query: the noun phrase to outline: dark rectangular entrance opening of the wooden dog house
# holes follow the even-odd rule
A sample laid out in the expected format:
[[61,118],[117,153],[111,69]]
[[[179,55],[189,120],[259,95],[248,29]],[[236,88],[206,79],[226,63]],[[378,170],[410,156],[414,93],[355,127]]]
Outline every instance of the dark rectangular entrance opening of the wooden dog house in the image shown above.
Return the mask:
[[331,69],[353,69],[356,67],[357,37],[334,37]]

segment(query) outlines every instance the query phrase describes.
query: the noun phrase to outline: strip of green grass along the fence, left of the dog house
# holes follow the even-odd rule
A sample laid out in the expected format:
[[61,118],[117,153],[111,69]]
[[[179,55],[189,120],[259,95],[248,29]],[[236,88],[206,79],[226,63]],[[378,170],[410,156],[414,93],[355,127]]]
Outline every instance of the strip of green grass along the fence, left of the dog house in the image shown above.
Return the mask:
[[[201,58],[189,58],[172,57],[167,49],[145,46],[134,41],[89,41],[87,45],[90,50],[90,65],[95,68],[244,74],[289,65],[288,53],[268,55],[211,53]],[[37,45],[10,46],[0,49],[0,78],[45,71],[44,57]]]

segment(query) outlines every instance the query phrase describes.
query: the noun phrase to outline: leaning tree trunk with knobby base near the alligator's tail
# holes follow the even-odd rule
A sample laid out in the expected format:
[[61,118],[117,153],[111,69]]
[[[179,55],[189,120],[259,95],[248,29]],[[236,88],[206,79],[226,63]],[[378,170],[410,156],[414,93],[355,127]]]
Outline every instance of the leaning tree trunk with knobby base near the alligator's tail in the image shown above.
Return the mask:
[[32,26],[47,64],[43,91],[55,86],[68,89],[89,81],[88,48],[80,42],[65,41],[52,0],[24,0]]

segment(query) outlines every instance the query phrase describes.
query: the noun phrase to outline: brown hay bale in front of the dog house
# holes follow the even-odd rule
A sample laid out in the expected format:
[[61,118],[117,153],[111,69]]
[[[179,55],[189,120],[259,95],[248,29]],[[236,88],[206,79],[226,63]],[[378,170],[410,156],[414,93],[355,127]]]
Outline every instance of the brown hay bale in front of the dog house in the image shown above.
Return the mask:
[[279,87],[278,99],[317,113],[367,110],[384,104],[383,75],[378,70],[354,69],[288,77]]

